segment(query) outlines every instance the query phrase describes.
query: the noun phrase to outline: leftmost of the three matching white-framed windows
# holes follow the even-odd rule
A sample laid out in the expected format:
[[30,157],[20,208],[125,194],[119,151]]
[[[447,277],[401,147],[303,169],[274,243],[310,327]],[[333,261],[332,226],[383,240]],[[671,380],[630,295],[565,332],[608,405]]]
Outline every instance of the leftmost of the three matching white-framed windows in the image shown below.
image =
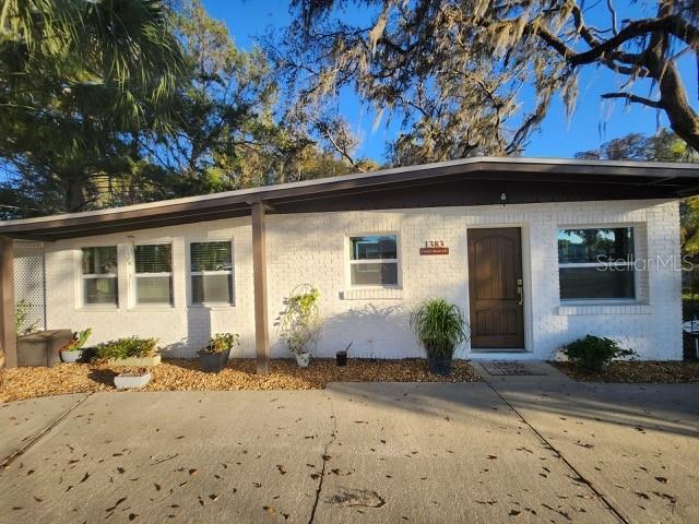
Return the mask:
[[116,246],[82,249],[82,285],[85,306],[119,303],[118,267]]

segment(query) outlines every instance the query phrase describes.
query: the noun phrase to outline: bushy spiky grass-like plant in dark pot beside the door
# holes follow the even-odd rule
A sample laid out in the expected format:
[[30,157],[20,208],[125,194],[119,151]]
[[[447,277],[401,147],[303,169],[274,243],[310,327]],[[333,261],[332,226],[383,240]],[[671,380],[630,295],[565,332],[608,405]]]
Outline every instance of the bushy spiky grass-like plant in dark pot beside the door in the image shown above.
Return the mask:
[[429,371],[449,374],[454,350],[469,340],[469,324],[461,308],[442,298],[430,298],[413,312],[411,327],[427,353]]

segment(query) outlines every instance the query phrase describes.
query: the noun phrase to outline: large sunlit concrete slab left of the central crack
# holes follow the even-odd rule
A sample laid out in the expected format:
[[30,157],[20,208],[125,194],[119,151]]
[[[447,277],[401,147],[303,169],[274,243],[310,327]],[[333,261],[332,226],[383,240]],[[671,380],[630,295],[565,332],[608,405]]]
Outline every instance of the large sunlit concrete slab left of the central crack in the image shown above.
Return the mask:
[[0,473],[0,522],[308,522],[328,403],[322,391],[94,394]]

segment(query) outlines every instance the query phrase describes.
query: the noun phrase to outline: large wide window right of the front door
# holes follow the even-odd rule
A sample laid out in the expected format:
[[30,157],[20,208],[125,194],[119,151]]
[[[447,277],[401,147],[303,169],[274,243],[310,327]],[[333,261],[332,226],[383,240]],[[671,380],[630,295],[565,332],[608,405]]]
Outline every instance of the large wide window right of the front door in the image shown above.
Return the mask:
[[633,227],[558,230],[561,300],[636,298]]

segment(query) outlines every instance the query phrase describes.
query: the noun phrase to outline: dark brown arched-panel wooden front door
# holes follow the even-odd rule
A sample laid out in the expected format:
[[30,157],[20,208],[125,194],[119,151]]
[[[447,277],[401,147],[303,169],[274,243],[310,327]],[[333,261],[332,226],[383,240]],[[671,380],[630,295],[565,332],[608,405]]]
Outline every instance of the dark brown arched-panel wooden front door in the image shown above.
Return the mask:
[[519,227],[469,229],[471,347],[524,348]]

